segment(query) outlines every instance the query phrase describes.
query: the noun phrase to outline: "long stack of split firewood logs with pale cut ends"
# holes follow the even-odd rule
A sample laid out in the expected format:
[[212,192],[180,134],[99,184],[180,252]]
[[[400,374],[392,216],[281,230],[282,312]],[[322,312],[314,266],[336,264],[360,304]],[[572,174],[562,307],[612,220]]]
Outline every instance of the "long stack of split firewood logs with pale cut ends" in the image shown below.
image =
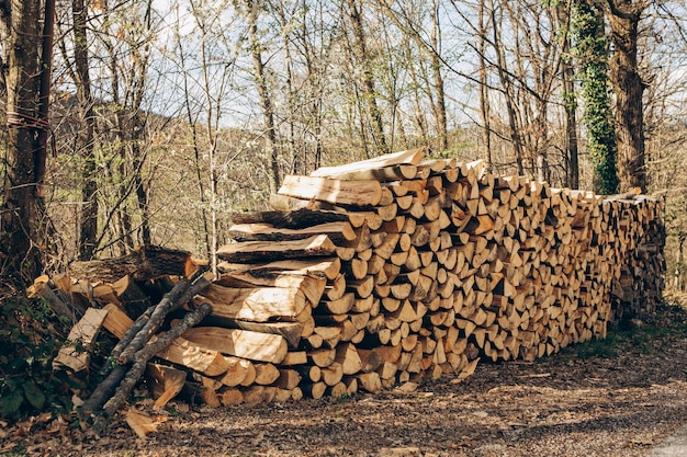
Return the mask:
[[[604,338],[661,297],[661,205],[634,193],[418,149],[286,176],[272,206],[235,215],[221,274],[188,304],[211,315],[148,365],[158,403],[190,382],[218,405],[462,379]],[[122,338],[132,321],[108,309]]]

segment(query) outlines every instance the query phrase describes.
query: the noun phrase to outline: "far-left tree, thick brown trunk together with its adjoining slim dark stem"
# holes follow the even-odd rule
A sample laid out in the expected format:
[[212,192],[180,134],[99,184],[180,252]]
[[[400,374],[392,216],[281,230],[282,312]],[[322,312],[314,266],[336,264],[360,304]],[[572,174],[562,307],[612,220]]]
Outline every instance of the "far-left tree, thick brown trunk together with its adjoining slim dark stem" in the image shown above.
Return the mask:
[[[43,187],[46,167],[55,3],[0,1],[7,149],[0,198],[0,273],[23,281],[42,271],[46,248]],[[45,11],[45,18],[41,12]],[[41,24],[44,27],[41,27]]]

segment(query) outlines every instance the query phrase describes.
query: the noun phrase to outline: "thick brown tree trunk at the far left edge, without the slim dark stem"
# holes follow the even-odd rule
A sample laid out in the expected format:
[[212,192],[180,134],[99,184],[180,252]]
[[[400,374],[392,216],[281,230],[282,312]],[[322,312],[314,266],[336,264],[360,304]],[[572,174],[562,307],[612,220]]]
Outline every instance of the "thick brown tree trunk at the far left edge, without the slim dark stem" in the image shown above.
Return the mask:
[[43,33],[40,12],[40,0],[12,1],[2,12],[8,35],[3,37],[8,142],[0,237],[8,277],[18,281],[37,276],[42,267],[36,249],[41,245],[38,187],[43,184],[38,130],[46,125],[36,111]]

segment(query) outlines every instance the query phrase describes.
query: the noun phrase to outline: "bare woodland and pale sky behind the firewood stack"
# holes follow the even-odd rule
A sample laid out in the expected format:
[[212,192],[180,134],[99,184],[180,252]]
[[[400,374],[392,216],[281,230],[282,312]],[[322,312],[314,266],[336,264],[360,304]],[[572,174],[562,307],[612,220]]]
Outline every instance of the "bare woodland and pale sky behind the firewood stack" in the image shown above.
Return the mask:
[[684,1],[27,0],[0,13],[0,277],[142,243],[212,259],[232,213],[268,208],[285,174],[429,146],[495,174],[660,195],[668,284],[685,287]]

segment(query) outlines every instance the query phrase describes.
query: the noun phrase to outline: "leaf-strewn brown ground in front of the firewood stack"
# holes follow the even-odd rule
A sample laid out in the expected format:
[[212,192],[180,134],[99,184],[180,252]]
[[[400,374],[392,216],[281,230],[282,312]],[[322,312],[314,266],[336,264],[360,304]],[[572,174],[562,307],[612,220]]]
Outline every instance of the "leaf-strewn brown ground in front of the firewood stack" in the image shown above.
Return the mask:
[[461,384],[218,409],[170,403],[146,438],[122,418],[100,438],[34,418],[0,426],[0,454],[643,456],[687,423],[687,300],[668,300],[604,341],[534,363],[481,363]]

